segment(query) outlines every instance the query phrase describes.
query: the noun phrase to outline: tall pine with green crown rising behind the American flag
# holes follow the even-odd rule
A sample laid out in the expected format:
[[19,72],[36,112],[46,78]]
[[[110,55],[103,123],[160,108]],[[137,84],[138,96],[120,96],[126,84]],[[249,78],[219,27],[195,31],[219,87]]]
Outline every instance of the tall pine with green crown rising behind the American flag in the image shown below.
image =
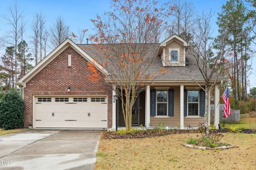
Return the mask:
[[[233,66],[232,76],[233,80],[233,95],[235,99],[240,100],[240,78],[239,69],[244,66],[241,66],[241,55],[238,56],[239,52],[242,52],[242,39],[244,38],[245,29],[247,21],[249,20],[249,15],[246,7],[243,4],[242,0],[229,0],[225,5],[222,6],[221,13],[218,13],[217,25],[219,26],[220,37],[223,37],[225,34],[226,43],[230,46],[233,51]],[[239,59],[238,59],[239,58]]]

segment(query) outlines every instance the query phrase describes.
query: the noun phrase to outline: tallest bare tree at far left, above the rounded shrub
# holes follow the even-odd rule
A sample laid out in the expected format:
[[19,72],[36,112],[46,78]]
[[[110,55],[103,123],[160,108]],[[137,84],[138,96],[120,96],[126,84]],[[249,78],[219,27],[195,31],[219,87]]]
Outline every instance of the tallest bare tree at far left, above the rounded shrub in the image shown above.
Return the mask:
[[15,62],[14,62],[14,67],[15,67],[15,81],[17,81],[17,49],[18,49],[18,43],[20,39],[20,22],[22,19],[22,13],[23,11],[20,10],[17,4],[13,5],[12,7],[9,8],[10,16],[6,17],[4,16],[3,18],[8,22],[8,24],[11,26],[10,29],[10,34],[8,34],[8,37],[11,39],[8,41],[9,44],[14,46],[14,56],[15,56]]

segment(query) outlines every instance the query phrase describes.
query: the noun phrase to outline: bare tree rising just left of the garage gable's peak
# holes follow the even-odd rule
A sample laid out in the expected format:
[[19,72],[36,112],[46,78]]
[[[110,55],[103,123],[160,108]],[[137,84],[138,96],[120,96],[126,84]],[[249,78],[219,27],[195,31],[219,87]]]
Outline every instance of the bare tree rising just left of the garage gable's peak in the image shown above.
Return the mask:
[[69,27],[65,25],[61,17],[56,19],[55,24],[50,29],[50,41],[55,48],[69,37]]

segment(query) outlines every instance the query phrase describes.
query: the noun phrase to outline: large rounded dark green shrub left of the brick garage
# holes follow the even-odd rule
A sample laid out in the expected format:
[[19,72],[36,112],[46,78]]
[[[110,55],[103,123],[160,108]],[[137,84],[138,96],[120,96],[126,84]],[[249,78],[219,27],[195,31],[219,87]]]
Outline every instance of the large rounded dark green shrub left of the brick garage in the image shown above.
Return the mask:
[[0,99],[0,128],[23,127],[24,102],[18,91],[9,91]]

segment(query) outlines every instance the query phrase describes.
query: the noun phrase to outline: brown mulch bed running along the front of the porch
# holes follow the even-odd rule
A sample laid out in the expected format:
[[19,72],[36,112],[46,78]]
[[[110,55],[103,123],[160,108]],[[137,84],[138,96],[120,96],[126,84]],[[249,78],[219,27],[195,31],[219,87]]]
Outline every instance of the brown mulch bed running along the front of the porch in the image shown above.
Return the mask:
[[[227,133],[230,132],[227,128],[221,128],[218,130],[210,131],[211,133]],[[136,134],[118,134],[115,131],[103,131],[103,139],[139,139],[144,137],[156,137],[164,136],[169,134],[179,134],[179,133],[201,133],[198,129],[147,129],[139,130]],[[241,129],[241,133],[255,133],[252,129]]]

